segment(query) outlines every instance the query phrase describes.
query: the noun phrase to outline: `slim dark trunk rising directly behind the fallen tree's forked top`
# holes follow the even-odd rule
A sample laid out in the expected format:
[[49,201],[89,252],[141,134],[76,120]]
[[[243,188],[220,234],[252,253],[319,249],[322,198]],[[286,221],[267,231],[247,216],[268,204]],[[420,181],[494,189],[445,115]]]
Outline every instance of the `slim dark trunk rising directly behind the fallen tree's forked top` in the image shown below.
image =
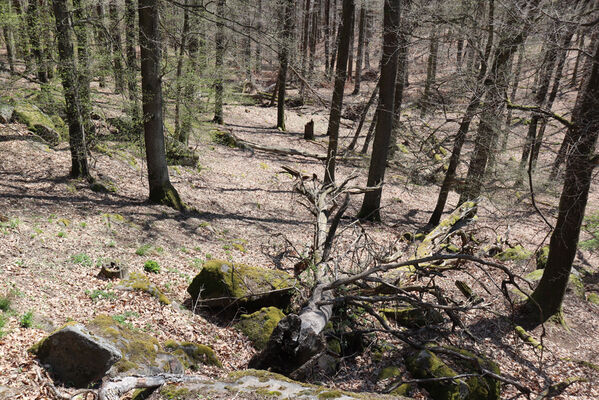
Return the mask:
[[343,108],[343,92],[347,73],[347,58],[349,53],[349,40],[351,35],[352,20],[354,17],[354,0],[343,0],[343,12],[339,40],[339,59],[335,70],[335,86],[331,100],[331,113],[329,115],[329,147],[325,162],[325,183],[335,182],[335,161],[339,141],[339,125],[341,123],[341,110]]

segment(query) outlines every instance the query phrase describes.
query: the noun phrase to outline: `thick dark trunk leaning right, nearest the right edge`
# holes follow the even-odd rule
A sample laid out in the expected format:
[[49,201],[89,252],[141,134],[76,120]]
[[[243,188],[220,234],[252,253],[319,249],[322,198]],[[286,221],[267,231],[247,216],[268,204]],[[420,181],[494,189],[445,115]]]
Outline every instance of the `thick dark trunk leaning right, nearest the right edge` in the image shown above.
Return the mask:
[[597,164],[594,153],[599,135],[599,39],[595,38],[593,48],[591,68],[572,110],[573,126],[567,133],[570,143],[575,145],[568,151],[566,179],[549,244],[547,266],[528,303],[530,312],[539,317],[539,322],[561,310],[576,256],[591,176]]

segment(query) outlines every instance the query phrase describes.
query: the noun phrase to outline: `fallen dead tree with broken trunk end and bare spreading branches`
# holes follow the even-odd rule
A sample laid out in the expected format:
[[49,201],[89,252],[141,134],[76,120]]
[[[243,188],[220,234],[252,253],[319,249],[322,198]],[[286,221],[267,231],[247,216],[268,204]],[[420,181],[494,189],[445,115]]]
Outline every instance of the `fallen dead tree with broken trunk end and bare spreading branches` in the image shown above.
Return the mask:
[[[528,285],[530,289],[531,283],[514,274],[507,266],[467,254],[470,239],[463,229],[473,220],[476,212],[475,203],[468,203],[458,208],[426,235],[422,243],[416,246],[414,257],[406,261],[381,262],[392,258],[398,259],[399,256],[379,255],[365,260],[359,266],[360,268],[355,268],[354,265],[354,268],[347,269],[347,273],[342,273],[337,268],[332,268],[332,265],[338,266],[338,260],[333,260],[331,252],[339,221],[349,203],[351,190],[347,188],[348,181],[344,181],[339,187],[324,186],[319,184],[314,176],[302,176],[292,169],[284,169],[296,177],[296,190],[308,200],[308,206],[315,216],[312,252],[307,259],[300,260],[304,266],[307,265],[307,271],[310,271],[308,276],[304,276],[304,280],[310,277],[312,289],[302,310],[280,321],[266,348],[250,361],[250,368],[268,369],[293,379],[310,377],[313,371],[319,368],[318,360],[327,353],[327,342],[323,332],[335,310],[340,307],[353,307],[369,314],[370,321],[380,327],[372,328],[370,322],[368,329],[365,328],[367,332],[385,333],[399,339],[413,351],[439,354],[446,358],[457,357],[471,365],[467,373],[453,377],[428,377],[413,382],[455,383],[460,377],[478,377],[513,385],[526,395],[531,393],[526,385],[492,368],[482,356],[471,353],[465,355],[442,345],[431,345],[425,338],[419,338],[416,333],[428,322],[422,322],[424,325],[419,322],[415,327],[408,329],[397,328],[390,322],[394,317],[393,309],[390,310],[389,305],[394,307],[401,305],[397,308],[398,313],[403,310],[415,310],[416,314],[424,316],[428,313],[434,315],[445,313],[448,316],[447,320],[442,319],[441,323],[432,322],[437,324],[434,328],[437,332],[443,331],[445,321],[449,321],[452,325],[451,332],[460,330],[463,333],[462,337],[476,341],[462,323],[460,314],[472,310],[486,310],[491,302],[485,301],[483,296],[476,293],[470,293],[466,301],[454,299],[446,289],[442,289],[435,283],[435,279],[445,277],[448,271],[466,270],[471,267],[486,272],[496,270],[505,278],[501,283],[494,283],[506,297],[509,298],[508,287],[510,286],[523,293],[529,292],[522,286]],[[444,244],[452,237],[462,241],[463,252],[448,254],[445,251]],[[356,243],[354,242],[353,245],[359,247]],[[360,269],[361,272],[355,272],[356,269]],[[353,272],[350,273],[349,270]],[[426,283],[418,283],[423,280],[426,280]],[[447,332],[449,334],[449,331]],[[402,383],[398,382],[396,383]],[[392,384],[390,387],[397,386]]]

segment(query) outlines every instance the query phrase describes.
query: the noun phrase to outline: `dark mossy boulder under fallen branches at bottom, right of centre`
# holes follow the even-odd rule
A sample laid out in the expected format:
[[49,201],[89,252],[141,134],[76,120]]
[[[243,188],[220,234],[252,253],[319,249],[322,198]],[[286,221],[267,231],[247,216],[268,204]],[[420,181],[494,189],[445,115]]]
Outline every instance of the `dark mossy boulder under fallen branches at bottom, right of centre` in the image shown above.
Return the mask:
[[[479,367],[499,374],[499,366],[468,350],[445,346],[464,357],[449,356],[448,363],[429,350],[420,350],[406,357],[406,368],[419,379],[453,377],[458,374],[478,373]],[[422,386],[435,400],[499,400],[500,382],[492,377],[473,376],[458,380],[426,382]]]

